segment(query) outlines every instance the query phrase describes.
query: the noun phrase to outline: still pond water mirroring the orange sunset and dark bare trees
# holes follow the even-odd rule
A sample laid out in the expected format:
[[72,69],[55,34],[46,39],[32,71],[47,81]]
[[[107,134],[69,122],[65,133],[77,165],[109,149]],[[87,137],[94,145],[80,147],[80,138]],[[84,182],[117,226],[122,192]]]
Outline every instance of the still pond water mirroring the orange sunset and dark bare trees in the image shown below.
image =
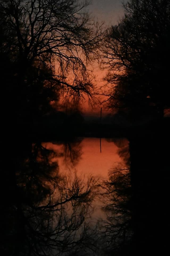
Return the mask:
[[[127,139],[18,143],[4,223],[10,255],[110,255],[131,239]],[[15,174],[15,178],[14,178]],[[122,249],[121,249],[122,250]]]

